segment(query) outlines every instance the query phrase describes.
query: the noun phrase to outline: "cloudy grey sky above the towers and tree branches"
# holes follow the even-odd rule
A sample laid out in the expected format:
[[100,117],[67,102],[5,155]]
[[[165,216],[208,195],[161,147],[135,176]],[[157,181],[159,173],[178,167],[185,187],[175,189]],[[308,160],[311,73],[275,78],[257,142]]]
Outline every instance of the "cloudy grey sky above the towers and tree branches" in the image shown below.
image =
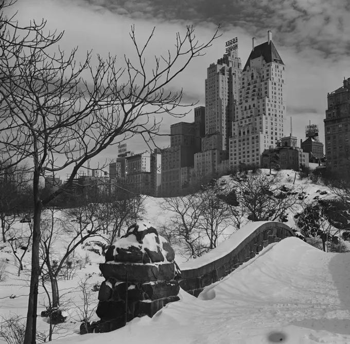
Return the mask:
[[[130,26],[140,42],[155,26],[155,36],[147,56],[172,49],[176,32],[194,24],[201,42],[208,41],[220,24],[222,37],[205,56],[196,59],[173,83],[184,89],[185,102],[204,105],[206,68],[224,53],[224,43],[238,36],[239,56],[244,65],[252,37],[257,44],[272,40],[287,66],[285,80],[287,116],[293,119],[293,135],[304,139],[305,125],[317,123],[324,142],[323,118],[327,92],[342,86],[350,77],[350,2],[348,0],[19,0],[17,19],[28,22],[45,18],[51,29],[65,30],[61,47],[79,47],[83,54],[93,49],[119,58],[132,55]],[[183,120],[193,121],[193,111]],[[177,119],[164,117],[163,130]],[[289,127],[289,125],[287,126]],[[289,134],[289,129],[286,134]],[[158,141],[168,146],[169,138]],[[144,145],[133,140],[128,148],[142,151]],[[96,161],[115,158],[116,148],[103,152]]]

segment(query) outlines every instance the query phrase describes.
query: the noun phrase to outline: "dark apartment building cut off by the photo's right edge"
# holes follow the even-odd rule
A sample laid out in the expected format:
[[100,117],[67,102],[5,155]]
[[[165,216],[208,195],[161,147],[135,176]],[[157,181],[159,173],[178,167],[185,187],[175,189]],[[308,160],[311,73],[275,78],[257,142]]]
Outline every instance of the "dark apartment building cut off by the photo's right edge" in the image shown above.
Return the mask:
[[327,95],[328,108],[324,121],[326,167],[346,170],[350,165],[350,78],[343,86]]

